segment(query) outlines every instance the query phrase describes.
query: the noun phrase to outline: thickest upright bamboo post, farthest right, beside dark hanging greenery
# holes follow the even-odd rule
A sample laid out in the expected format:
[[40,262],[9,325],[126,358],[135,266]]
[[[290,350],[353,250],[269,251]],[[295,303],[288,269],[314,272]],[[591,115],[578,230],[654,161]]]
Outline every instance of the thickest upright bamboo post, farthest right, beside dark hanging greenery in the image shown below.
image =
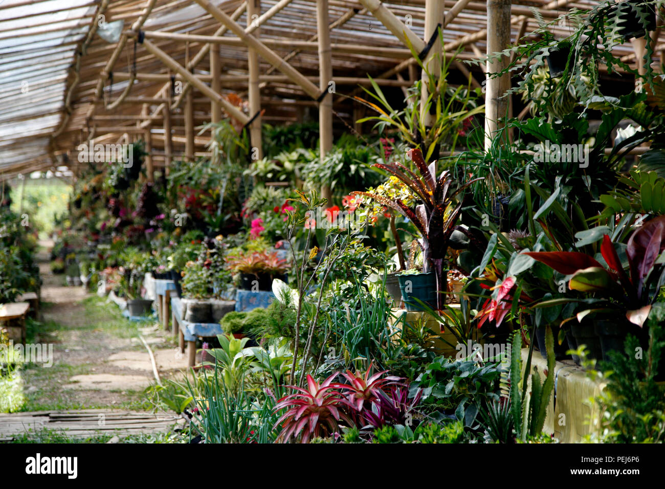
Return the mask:
[[[487,0],[487,55],[503,51],[510,44],[510,5],[511,0]],[[491,142],[497,131],[503,128],[501,118],[508,113],[509,98],[503,94],[510,88],[510,74],[491,78],[492,73],[498,73],[507,67],[509,57],[501,57],[487,63],[487,84],[485,84],[485,150],[491,147]]]

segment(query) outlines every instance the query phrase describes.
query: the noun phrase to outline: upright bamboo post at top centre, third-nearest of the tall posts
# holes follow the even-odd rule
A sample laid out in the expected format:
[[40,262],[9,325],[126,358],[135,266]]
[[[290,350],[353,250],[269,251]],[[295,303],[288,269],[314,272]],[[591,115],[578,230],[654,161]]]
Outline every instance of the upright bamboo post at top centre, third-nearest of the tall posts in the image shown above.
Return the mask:
[[[317,31],[319,34],[319,88],[327,90],[319,102],[319,153],[321,161],[332,149],[332,93],[328,93],[332,81],[331,35],[328,21],[328,0],[317,0]],[[334,90],[332,90],[334,91]],[[331,206],[332,190],[329,186],[321,189],[321,196]]]

